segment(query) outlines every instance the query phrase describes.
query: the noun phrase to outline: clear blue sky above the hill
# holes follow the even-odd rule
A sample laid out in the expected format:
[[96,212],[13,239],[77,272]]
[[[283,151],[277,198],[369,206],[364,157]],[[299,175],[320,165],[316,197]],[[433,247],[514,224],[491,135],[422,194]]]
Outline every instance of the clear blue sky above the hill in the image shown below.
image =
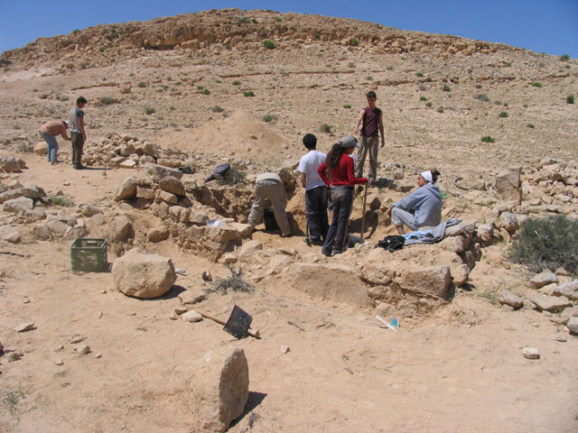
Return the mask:
[[578,0],[0,0],[0,52],[98,24],[228,7],[357,18],[578,58]]

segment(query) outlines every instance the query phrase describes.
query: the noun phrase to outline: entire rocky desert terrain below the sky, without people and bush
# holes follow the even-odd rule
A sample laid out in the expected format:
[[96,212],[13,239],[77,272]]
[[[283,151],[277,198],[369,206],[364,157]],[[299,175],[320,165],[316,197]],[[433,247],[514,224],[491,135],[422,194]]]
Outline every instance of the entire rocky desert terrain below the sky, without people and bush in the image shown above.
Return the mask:
[[[578,216],[576,60],[227,9],[41,38],[0,61],[3,431],[222,431],[238,401],[214,377],[243,390],[234,432],[576,428],[578,280],[509,259],[528,218]],[[386,133],[368,244],[326,258],[303,242],[302,137],[329,151],[368,90]],[[61,138],[51,166],[38,127],[79,96],[88,170]],[[234,179],[203,183],[224,162]],[[461,223],[439,244],[374,248],[431,168],[443,218]],[[266,170],[284,180],[292,238],[246,224]],[[359,194],[355,235],[362,218]],[[106,238],[114,271],[71,272],[79,237]],[[260,339],[191,323],[234,305]]]

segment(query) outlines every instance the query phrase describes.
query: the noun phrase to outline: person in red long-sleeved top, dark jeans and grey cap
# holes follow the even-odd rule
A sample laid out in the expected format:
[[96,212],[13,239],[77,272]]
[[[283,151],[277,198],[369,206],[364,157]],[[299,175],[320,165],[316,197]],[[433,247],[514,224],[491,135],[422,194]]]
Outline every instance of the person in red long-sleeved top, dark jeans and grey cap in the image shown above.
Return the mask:
[[354,185],[368,183],[367,178],[356,178],[353,172],[353,159],[350,154],[357,146],[358,141],[354,137],[342,137],[338,143],[333,144],[327,159],[317,169],[322,180],[331,187],[333,201],[333,220],[322,246],[322,253],[326,256],[340,254],[347,249],[347,227],[353,206]]

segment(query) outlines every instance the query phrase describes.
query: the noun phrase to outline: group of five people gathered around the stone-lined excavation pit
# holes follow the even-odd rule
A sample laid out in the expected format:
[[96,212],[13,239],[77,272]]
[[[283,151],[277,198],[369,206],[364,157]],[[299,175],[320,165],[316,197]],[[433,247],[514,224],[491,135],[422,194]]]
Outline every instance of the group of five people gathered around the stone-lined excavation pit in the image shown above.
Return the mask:
[[[378,147],[385,145],[383,113],[376,106],[375,92],[368,92],[367,98],[368,106],[359,113],[354,131],[334,143],[327,155],[317,150],[315,135],[305,134],[303,137],[308,152],[299,161],[297,170],[305,189],[306,235],[311,244],[322,246],[322,253],[326,256],[343,253],[348,247],[355,186],[375,185],[378,181]],[[360,144],[353,136],[359,133],[359,126]],[[359,150],[357,161],[353,154],[356,149]],[[363,166],[368,154],[369,173],[368,178],[364,178]],[[405,234],[404,226],[415,231],[441,223],[442,194],[435,185],[439,176],[438,170],[424,170],[417,179],[419,188],[388,209],[387,214],[399,235]],[[287,203],[284,184],[275,173],[267,172],[257,177],[256,200],[248,217],[249,224],[256,226],[260,222],[266,198],[271,201],[282,236],[292,235],[284,210]],[[327,215],[328,202],[331,202],[331,225]]]

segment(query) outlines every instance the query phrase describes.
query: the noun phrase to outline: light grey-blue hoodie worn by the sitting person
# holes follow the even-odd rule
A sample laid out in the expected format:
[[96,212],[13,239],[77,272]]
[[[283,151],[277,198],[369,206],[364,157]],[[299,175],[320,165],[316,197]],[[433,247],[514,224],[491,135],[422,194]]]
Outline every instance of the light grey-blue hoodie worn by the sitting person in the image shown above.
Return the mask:
[[393,205],[413,212],[415,226],[431,227],[442,222],[442,193],[433,183],[426,183]]

